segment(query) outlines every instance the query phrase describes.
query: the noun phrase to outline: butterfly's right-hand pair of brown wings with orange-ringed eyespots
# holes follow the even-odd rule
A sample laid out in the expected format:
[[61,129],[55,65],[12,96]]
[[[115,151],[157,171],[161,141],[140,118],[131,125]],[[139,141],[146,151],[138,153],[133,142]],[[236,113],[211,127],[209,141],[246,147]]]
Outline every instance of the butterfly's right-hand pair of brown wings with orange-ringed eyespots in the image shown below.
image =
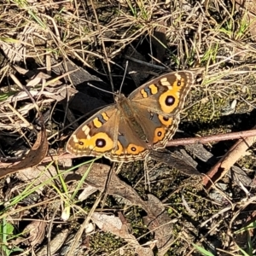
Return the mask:
[[193,81],[194,73],[169,73],[143,84],[128,97],[151,148],[164,148],[177,131]]

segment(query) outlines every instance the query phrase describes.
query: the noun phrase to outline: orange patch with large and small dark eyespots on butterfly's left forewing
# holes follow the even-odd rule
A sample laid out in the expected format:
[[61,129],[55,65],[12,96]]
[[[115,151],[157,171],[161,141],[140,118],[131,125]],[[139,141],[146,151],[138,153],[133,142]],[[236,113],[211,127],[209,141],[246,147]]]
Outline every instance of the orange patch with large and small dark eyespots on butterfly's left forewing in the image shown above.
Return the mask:
[[99,132],[95,136],[86,139],[79,139],[77,143],[77,148],[81,151],[90,149],[97,152],[106,152],[113,148],[113,141],[108,134],[104,132]]

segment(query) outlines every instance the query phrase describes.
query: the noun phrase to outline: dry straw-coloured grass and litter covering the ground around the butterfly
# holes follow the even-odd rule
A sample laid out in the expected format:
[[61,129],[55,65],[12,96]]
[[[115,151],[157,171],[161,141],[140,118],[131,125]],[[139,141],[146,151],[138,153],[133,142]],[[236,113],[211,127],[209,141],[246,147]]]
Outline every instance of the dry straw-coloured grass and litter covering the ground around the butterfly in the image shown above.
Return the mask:
[[[47,244],[49,255],[134,255],[139,245],[153,248],[157,255],[155,237],[159,235],[150,232],[143,222],[145,212],[153,212],[143,205],[148,194],[164,204],[168,213],[165,219],[172,220],[172,228],[168,226],[172,239],[165,255],[255,255],[253,147],[236,163],[244,176],[230,172],[211,191],[203,189],[198,178],[183,176],[172,166],[153,161],[147,163],[147,170],[140,162],[124,165],[119,177],[127,183],[132,195],[128,198],[118,189],[108,188],[111,182],[100,187],[97,179],[101,177],[96,181],[89,177],[90,168],[85,168],[79,178],[67,179],[67,174],[84,160],[72,164],[61,157],[75,127],[70,124],[84,108],[87,113],[102,102],[112,102],[111,95],[81,83],[84,71],[77,73],[77,67],[89,73],[86,81],[93,74],[112,85],[106,88],[102,84],[102,89],[116,91],[129,60],[122,88],[127,94],[136,88],[135,84],[149,79],[148,73],[160,73],[163,67],[201,67],[179,128],[190,137],[251,129],[255,125],[256,58],[250,6],[222,0],[204,6],[199,2],[140,0],[0,3],[2,162],[20,160],[39,130],[37,110],[22,86],[43,113],[49,154],[57,156],[50,163],[0,180],[1,255],[46,255]],[[136,62],[129,58],[131,53]],[[67,105],[79,91],[89,98],[83,102],[82,95],[81,102],[76,98]],[[91,96],[96,102],[83,105]],[[230,145],[232,142],[201,147],[204,160],[195,152],[197,146],[194,151],[185,149],[194,157],[197,169],[206,173]],[[183,148],[178,150],[184,154]],[[109,166],[108,161],[102,161]],[[84,180],[100,191],[86,200],[81,195]],[[119,179],[116,183],[125,186]],[[137,194],[132,194],[131,187]],[[99,228],[98,224],[92,228],[96,212],[121,219],[137,244],[114,233],[113,228]],[[166,220],[161,221],[167,225]],[[32,225],[30,231],[28,224]],[[56,241],[55,237],[61,238]],[[59,243],[59,248],[53,246]],[[199,253],[202,248],[205,254]],[[159,250],[158,255],[163,252]]]

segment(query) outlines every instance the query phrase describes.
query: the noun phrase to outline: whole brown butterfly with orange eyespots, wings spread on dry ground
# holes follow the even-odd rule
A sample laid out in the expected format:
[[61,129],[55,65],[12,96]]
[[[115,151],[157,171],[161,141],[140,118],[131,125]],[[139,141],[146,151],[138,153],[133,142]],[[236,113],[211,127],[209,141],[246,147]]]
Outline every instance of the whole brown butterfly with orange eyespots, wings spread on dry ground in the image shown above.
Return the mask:
[[194,73],[167,73],[134,90],[115,96],[73,132],[67,152],[80,156],[104,155],[114,161],[143,160],[150,150],[165,148],[179,123],[179,113]]

